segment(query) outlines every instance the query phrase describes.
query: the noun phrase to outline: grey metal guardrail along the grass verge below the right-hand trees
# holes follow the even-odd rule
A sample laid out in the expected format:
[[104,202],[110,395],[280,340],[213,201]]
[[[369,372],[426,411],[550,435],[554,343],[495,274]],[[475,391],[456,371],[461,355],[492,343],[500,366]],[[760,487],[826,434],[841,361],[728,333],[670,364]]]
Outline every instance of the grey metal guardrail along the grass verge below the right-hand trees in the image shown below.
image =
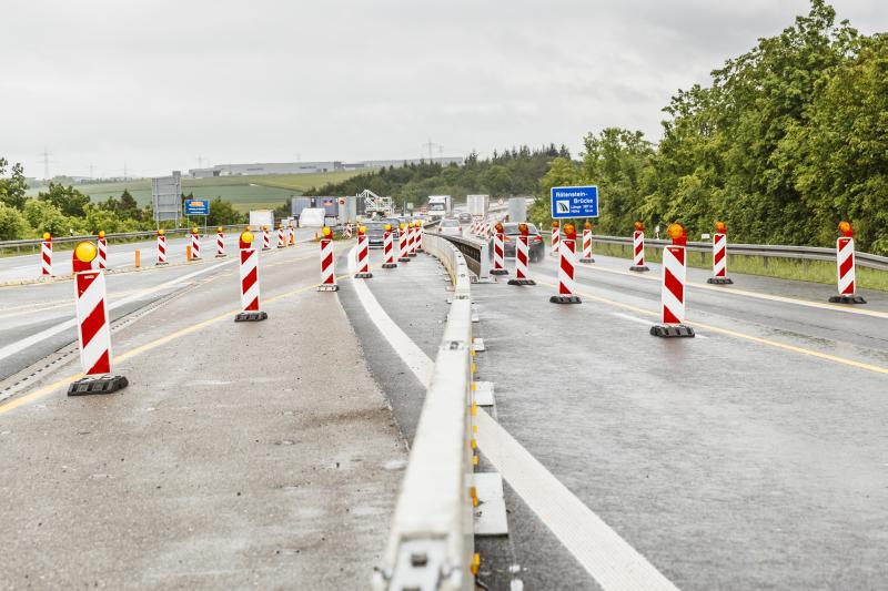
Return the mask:
[[[617,244],[625,248],[632,248],[632,236],[601,236],[594,234],[594,242],[602,244]],[[672,241],[645,238],[645,247],[663,248],[672,244]],[[713,244],[710,242],[688,242],[686,246],[689,252],[712,254]],[[767,244],[736,244],[728,245],[729,255],[761,256],[766,259],[774,258],[795,258],[797,261],[827,261],[836,262],[836,248],[823,248],[819,246],[783,246]],[[888,256],[880,256],[868,253],[855,253],[857,265],[875,268],[877,271],[888,271]]]

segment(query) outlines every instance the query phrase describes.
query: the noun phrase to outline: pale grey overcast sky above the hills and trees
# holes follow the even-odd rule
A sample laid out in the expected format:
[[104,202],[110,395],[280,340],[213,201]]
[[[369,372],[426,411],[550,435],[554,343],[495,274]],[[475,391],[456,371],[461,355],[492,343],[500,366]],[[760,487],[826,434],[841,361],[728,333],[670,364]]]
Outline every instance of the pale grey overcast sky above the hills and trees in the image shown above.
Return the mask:
[[[888,30],[885,0],[836,0]],[[0,155],[29,176],[659,137],[678,88],[807,0],[0,0]],[[438,155],[438,149],[433,149]]]

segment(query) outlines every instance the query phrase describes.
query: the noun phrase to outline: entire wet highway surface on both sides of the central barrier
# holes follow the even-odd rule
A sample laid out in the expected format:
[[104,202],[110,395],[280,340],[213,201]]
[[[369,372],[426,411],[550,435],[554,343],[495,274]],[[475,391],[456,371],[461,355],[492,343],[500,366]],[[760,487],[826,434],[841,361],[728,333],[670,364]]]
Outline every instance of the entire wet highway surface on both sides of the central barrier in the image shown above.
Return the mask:
[[[27,345],[0,357],[8,587],[366,587],[450,296],[434,258],[381,257],[376,310],[344,276],[314,291],[313,244],[264,255],[258,324],[231,322],[233,264],[110,275],[131,381],[111,397],[64,396],[73,333],[27,340],[70,318],[70,282],[0,289],[0,344]],[[698,336],[658,339],[649,266],[596,256],[573,306],[548,302],[554,257],[536,286],[472,286],[495,385],[478,469],[509,528],[477,538],[480,581],[620,589],[623,551],[679,589],[888,585],[888,294],[841,308],[830,286],[689,269]]]

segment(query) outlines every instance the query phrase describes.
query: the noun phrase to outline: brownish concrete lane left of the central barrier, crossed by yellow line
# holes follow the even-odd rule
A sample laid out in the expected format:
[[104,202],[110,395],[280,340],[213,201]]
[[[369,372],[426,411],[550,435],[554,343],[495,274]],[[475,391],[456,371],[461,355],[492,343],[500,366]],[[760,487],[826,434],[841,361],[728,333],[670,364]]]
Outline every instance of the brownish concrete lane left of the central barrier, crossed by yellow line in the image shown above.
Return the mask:
[[122,393],[0,405],[3,587],[366,587],[406,455],[304,254],[262,266],[263,323],[225,271],[115,333]]

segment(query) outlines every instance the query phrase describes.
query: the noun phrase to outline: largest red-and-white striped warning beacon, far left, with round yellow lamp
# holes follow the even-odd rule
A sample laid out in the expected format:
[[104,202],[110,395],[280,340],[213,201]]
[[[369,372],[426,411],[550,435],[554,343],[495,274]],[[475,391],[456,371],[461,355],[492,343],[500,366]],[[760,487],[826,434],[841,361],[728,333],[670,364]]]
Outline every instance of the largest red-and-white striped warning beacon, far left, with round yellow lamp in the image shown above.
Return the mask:
[[111,326],[105,305],[104,272],[93,269],[99,254],[91,241],[74,246],[74,303],[80,363],[85,377],[68,386],[68,396],[111,394],[129,385],[123,376],[111,376]]

